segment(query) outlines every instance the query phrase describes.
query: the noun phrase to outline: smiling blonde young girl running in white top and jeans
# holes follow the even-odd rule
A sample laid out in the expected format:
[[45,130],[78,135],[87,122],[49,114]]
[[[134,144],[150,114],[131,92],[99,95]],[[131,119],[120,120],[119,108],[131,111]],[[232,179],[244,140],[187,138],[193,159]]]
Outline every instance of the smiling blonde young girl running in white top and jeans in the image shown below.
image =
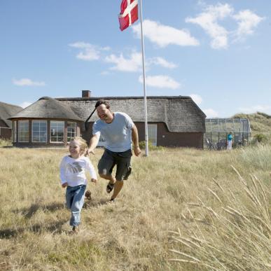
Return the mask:
[[95,169],[89,158],[84,156],[88,145],[81,137],[75,137],[69,143],[70,155],[64,156],[60,163],[60,179],[62,188],[67,187],[67,207],[71,209],[69,225],[74,232],[78,231],[81,223],[81,209],[84,204],[85,187],[87,179],[85,171],[90,172],[91,181],[97,182]]

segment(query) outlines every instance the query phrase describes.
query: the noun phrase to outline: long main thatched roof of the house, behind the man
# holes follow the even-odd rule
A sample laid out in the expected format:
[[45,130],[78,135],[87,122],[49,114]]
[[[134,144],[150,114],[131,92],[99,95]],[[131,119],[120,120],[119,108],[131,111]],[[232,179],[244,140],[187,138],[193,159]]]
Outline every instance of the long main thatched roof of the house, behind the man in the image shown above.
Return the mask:
[[[58,98],[64,104],[86,120],[95,109],[98,99],[106,99],[111,111],[127,113],[134,122],[144,122],[143,97],[90,97],[90,98]],[[186,96],[155,96],[147,97],[148,123],[163,122],[169,132],[205,132],[205,114]],[[94,113],[90,121],[97,120]]]

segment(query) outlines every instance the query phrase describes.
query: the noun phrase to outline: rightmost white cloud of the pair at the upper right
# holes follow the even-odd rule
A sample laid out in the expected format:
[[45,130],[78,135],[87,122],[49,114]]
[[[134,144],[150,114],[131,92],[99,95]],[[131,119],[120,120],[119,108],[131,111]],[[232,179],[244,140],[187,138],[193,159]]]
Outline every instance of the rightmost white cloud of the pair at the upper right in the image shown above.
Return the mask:
[[233,15],[232,18],[237,20],[238,23],[238,28],[235,31],[237,40],[242,39],[244,36],[253,34],[254,29],[262,20],[265,19],[249,10],[240,11],[237,15]]

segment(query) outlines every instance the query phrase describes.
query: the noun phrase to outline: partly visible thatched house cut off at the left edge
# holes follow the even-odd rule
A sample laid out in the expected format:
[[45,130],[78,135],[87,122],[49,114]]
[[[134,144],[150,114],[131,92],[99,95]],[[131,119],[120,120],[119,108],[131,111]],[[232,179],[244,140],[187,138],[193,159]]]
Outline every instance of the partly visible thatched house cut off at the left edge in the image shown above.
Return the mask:
[[11,140],[12,121],[8,118],[21,110],[22,107],[20,106],[0,102],[0,139]]

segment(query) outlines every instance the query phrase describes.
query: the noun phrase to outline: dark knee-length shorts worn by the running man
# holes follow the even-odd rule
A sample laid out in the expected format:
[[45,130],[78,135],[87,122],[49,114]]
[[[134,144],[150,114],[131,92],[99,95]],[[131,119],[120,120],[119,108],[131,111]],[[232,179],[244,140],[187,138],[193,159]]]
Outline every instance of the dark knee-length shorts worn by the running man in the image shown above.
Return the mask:
[[99,174],[111,175],[113,167],[117,165],[116,180],[123,181],[131,164],[132,150],[115,153],[107,149],[104,150],[102,158],[99,160]]

